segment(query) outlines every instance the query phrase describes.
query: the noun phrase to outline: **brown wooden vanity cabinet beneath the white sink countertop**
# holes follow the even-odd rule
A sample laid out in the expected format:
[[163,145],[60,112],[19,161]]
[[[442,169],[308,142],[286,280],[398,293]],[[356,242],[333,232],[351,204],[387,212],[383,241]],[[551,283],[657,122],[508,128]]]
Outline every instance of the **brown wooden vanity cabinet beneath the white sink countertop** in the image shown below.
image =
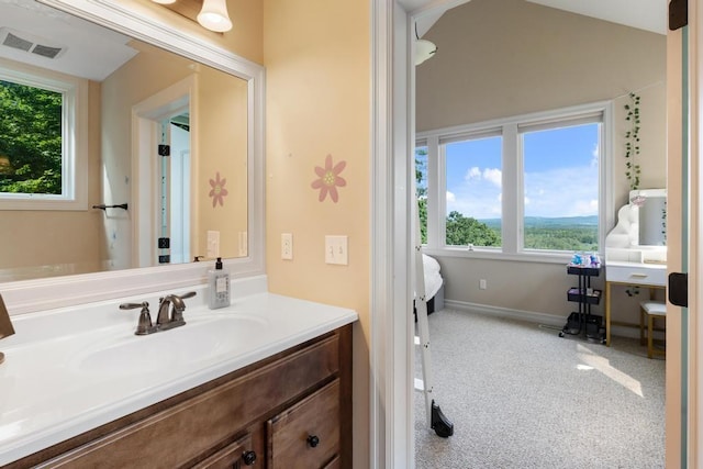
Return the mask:
[[8,468],[350,468],[352,326]]

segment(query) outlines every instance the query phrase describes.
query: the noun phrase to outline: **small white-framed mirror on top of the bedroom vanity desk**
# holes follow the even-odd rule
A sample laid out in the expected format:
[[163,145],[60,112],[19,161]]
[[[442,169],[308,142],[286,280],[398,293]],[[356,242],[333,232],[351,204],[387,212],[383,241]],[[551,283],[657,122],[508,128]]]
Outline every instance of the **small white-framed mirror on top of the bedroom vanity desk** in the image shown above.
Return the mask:
[[629,192],[639,220],[638,246],[667,245],[667,190],[644,189]]

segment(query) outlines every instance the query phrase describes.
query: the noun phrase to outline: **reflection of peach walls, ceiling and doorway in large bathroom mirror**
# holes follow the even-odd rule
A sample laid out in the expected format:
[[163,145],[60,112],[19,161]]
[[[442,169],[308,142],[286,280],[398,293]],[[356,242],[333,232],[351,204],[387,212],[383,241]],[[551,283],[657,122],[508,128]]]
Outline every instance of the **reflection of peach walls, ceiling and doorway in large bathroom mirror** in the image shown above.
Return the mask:
[[[32,0],[0,1],[2,77],[78,83],[64,111],[83,163],[62,170],[79,169],[85,194],[68,209],[0,200],[0,281],[248,255],[246,80]],[[22,172],[0,161],[0,179]]]

